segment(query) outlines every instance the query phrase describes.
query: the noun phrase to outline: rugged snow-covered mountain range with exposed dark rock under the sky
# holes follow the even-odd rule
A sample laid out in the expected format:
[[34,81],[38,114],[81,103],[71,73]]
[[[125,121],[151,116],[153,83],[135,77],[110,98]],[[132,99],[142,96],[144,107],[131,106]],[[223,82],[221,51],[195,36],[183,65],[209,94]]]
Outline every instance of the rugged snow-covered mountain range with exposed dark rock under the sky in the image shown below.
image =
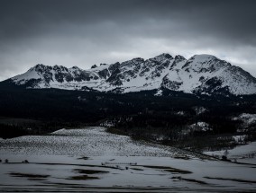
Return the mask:
[[187,93],[256,93],[256,79],[238,66],[210,55],[186,59],[161,54],[83,70],[77,66],[32,67],[7,80],[26,88],[139,92],[169,89]]

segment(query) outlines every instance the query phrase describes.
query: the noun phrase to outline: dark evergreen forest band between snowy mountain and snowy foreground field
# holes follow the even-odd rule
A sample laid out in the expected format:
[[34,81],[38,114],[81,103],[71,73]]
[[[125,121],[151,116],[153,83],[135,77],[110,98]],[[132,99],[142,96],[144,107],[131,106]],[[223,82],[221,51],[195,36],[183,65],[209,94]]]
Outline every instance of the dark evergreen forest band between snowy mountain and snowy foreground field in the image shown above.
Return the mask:
[[[256,113],[255,95],[224,97],[166,90],[162,96],[154,96],[155,92],[118,94],[2,86],[0,137],[45,135],[62,127],[105,126],[108,123],[111,124],[110,132],[134,139],[179,147],[197,144],[200,148],[204,141],[215,143],[217,136],[228,138],[236,134],[242,122],[233,117]],[[205,109],[204,113],[197,112],[200,108]],[[6,118],[9,121],[5,121]],[[31,121],[15,122],[17,118]],[[211,130],[184,133],[187,126],[202,121],[208,123]],[[247,129],[246,134],[250,136],[248,140],[253,140],[255,127]],[[229,145],[233,144],[229,142]]]

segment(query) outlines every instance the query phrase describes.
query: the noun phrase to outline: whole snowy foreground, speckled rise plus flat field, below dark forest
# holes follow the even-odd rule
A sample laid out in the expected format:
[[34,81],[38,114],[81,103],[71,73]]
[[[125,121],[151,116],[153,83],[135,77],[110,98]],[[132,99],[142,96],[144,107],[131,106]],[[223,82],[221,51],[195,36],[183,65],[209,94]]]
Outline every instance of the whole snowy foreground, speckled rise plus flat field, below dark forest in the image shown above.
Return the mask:
[[[251,145],[248,154],[256,150]],[[246,154],[245,146],[238,148]],[[239,151],[235,156],[246,161]],[[103,127],[0,140],[0,159],[0,192],[256,191],[255,158],[221,162],[108,134]]]

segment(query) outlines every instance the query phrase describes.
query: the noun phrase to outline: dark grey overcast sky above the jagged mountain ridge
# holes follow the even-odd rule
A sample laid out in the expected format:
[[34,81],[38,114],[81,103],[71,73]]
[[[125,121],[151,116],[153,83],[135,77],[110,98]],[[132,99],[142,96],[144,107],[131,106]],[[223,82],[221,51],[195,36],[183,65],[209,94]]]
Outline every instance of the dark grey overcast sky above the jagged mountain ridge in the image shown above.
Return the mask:
[[211,54],[256,76],[256,1],[0,0],[0,80],[44,65]]

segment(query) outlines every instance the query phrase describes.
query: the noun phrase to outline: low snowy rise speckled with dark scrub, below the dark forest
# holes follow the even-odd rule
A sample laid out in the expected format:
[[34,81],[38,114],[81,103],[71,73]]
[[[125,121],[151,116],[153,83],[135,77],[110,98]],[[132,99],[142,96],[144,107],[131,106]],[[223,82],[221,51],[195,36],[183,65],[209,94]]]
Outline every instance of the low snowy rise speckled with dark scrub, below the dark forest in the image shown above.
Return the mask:
[[133,141],[129,136],[106,133],[104,127],[60,129],[49,136],[7,139],[1,143],[0,154],[160,157],[187,155],[177,148]]

